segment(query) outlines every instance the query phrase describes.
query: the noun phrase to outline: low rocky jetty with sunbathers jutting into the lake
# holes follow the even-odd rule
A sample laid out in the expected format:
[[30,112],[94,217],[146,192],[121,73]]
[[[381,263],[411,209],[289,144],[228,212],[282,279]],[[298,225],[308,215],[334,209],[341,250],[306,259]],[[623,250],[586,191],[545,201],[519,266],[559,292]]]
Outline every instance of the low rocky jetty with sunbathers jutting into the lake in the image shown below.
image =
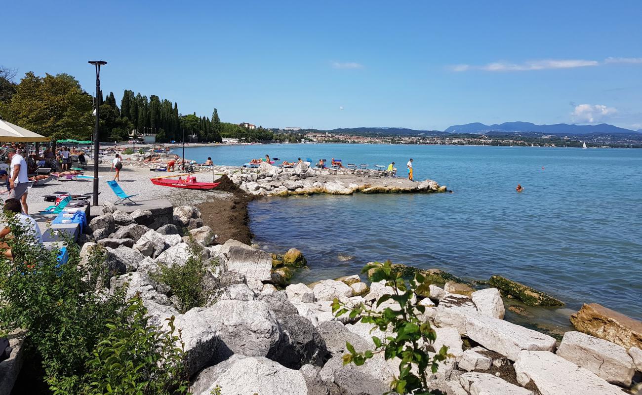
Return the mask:
[[261,163],[258,168],[220,168],[241,189],[259,196],[290,196],[328,193],[446,192],[433,180],[414,182],[393,177],[380,170],[318,169],[302,162],[293,168],[279,168]]

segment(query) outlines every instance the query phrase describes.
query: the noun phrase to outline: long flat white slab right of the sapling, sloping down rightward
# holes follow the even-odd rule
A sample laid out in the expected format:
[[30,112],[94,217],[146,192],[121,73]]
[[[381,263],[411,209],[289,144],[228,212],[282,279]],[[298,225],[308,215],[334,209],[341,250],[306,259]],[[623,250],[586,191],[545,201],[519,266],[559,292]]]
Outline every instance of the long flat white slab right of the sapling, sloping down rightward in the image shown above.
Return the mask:
[[465,330],[475,342],[513,361],[521,350],[553,351],[555,347],[555,339],[548,335],[485,315],[467,315]]

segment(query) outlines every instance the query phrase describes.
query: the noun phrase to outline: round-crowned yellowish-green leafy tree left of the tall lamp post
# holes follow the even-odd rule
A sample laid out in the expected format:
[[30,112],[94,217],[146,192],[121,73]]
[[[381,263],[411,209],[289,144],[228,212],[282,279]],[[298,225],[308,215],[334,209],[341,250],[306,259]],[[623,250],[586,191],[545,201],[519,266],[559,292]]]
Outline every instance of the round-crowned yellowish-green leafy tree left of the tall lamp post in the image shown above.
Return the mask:
[[94,125],[92,96],[67,74],[26,73],[3,108],[8,121],[52,139],[88,139]]

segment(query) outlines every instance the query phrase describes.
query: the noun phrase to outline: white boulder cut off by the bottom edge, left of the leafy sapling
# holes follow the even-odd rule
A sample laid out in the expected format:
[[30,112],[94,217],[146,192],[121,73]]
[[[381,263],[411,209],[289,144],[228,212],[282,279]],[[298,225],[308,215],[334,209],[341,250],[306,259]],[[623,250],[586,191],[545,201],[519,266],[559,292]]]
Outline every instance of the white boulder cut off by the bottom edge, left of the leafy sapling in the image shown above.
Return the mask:
[[214,365],[198,375],[194,395],[210,395],[217,385],[223,395],[308,395],[302,373],[268,358],[233,356],[221,364],[225,366]]

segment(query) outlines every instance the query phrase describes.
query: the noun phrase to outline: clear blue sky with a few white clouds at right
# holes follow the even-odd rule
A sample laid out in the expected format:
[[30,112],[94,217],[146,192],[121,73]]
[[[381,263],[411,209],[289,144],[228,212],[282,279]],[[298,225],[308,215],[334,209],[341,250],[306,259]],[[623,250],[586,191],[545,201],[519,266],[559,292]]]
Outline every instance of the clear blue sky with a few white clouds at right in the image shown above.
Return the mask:
[[[24,1],[0,65],[264,127],[642,128],[642,2]],[[94,33],[99,26],[100,33]]]

